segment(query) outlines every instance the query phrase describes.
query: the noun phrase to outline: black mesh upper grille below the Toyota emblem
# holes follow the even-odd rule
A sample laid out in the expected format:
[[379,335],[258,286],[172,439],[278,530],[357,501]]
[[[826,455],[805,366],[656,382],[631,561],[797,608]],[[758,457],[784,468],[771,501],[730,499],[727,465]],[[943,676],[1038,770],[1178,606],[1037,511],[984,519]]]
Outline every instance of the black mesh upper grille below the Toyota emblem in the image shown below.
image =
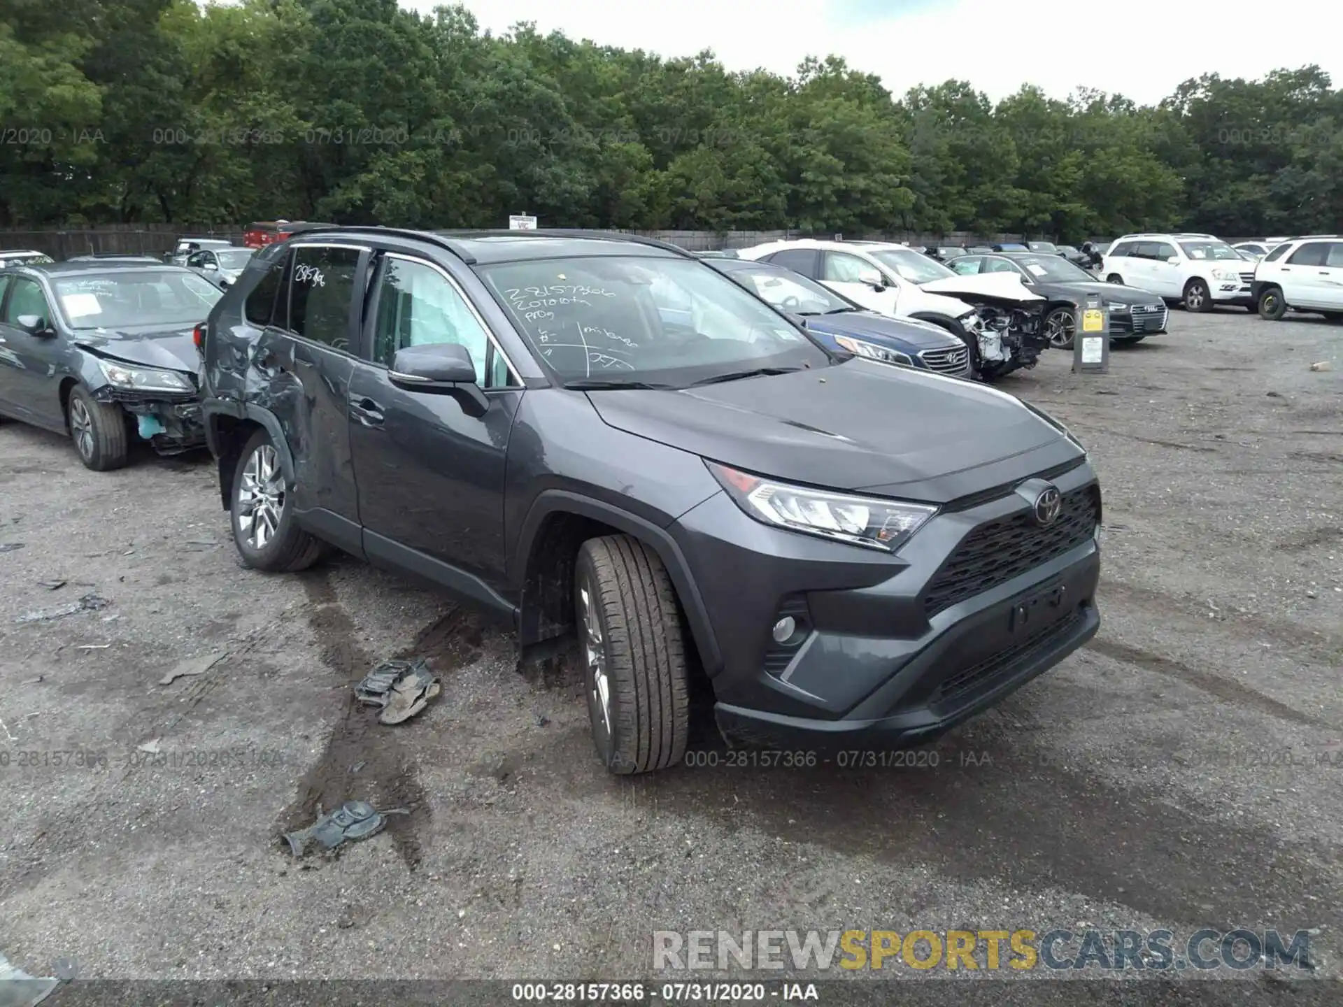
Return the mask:
[[1041,528],[1030,510],[980,525],[962,538],[933,579],[924,596],[924,615],[931,619],[1077,548],[1092,537],[1099,520],[1100,487],[1092,483],[1065,493],[1058,518],[1048,528]]

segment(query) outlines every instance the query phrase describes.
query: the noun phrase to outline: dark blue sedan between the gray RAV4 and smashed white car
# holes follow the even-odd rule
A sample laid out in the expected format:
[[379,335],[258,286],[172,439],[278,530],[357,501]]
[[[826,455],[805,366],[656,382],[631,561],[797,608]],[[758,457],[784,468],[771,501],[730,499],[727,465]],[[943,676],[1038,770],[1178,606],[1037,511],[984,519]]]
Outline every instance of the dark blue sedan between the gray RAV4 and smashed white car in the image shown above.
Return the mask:
[[952,377],[970,377],[970,350],[945,329],[864,310],[849,298],[783,266],[749,259],[705,262],[792,316],[830,349]]

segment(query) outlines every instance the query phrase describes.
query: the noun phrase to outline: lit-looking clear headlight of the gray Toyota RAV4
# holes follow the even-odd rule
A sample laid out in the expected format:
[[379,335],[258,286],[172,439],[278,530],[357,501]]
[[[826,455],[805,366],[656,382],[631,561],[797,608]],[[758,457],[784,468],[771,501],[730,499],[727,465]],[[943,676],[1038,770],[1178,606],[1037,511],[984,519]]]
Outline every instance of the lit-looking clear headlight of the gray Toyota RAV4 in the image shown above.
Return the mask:
[[882,552],[898,549],[937,513],[937,508],[927,504],[788,486],[713,462],[705,465],[737,506],[756,521]]

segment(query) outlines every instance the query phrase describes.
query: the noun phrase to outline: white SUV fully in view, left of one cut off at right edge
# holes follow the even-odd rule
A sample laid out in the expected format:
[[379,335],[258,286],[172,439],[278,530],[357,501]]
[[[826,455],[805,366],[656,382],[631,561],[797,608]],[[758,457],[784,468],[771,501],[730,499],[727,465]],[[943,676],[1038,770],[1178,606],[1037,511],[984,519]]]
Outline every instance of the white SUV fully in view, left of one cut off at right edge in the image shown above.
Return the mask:
[[1105,252],[1101,275],[1183,302],[1190,311],[1214,305],[1254,310],[1254,263],[1210,234],[1127,234]]

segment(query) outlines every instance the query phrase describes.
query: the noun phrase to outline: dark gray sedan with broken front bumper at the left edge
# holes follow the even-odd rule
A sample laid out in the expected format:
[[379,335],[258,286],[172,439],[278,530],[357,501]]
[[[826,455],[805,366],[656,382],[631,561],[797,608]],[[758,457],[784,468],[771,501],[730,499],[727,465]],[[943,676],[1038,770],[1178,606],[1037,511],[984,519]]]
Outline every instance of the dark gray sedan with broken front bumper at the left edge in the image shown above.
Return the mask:
[[73,438],[87,467],[204,444],[193,329],[220,291],[176,266],[115,260],[0,270],[0,414]]

